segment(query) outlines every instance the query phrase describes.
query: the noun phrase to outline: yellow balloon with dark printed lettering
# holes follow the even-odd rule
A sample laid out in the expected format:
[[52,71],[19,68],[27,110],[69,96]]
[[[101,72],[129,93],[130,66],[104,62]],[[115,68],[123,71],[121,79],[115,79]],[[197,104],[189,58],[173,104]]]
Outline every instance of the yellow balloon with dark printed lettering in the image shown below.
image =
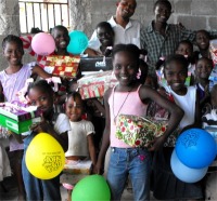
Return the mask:
[[26,166],[37,178],[58,176],[65,164],[65,153],[59,142],[48,133],[39,133],[26,150]]

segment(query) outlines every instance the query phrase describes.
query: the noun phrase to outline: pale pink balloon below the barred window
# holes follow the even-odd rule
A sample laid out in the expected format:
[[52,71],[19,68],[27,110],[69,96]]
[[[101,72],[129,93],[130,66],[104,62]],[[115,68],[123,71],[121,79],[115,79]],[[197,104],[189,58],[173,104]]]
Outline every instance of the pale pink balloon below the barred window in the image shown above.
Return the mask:
[[31,40],[31,49],[36,54],[47,56],[54,52],[55,41],[51,35],[39,32]]

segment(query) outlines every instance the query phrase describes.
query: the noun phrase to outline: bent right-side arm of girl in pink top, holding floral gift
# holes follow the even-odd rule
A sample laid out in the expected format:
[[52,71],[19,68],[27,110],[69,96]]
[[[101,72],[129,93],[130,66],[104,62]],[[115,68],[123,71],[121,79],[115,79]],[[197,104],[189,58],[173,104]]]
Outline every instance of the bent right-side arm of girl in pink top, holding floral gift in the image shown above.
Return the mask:
[[169,136],[169,134],[178,126],[179,122],[181,121],[183,117],[183,111],[176,104],[169,102],[167,98],[159,95],[156,91],[152,90],[149,86],[145,86],[145,85],[141,86],[139,94],[142,100],[150,98],[154,100],[156,104],[158,104],[159,106],[162,106],[163,108],[167,109],[170,113],[169,120],[168,120],[168,126],[164,135],[155,138],[153,142],[150,143],[150,145],[152,144],[153,146],[149,150],[151,151],[157,150],[166,140],[166,138]]

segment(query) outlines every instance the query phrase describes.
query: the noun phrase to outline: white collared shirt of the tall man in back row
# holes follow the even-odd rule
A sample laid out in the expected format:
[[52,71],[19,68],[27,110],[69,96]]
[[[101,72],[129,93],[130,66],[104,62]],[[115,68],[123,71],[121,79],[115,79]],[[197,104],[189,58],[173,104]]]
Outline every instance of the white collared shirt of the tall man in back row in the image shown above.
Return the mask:
[[[123,28],[120,25],[116,24],[114,16],[111,17],[107,23],[111,24],[111,26],[114,29],[115,32],[115,39],[114,44],[118,43],[133,43],[140,48],[140,22],[136,19],[129,19],[129,23],[127,24],[126,28]],[[93,49],[95,51],[99,51],[100,49],[100,41],[97,36],[97,30],[93,31],[88,48]]]

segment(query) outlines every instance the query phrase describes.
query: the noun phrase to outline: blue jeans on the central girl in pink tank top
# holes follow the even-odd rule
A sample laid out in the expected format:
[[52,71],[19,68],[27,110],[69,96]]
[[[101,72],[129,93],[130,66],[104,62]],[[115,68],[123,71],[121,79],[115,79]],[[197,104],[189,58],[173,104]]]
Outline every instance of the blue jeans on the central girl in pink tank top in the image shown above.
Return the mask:
[[111,147],[107,183],[112,200],[120,200],[128,175],[136,201],[150,200],[151,153],[145,148]]

